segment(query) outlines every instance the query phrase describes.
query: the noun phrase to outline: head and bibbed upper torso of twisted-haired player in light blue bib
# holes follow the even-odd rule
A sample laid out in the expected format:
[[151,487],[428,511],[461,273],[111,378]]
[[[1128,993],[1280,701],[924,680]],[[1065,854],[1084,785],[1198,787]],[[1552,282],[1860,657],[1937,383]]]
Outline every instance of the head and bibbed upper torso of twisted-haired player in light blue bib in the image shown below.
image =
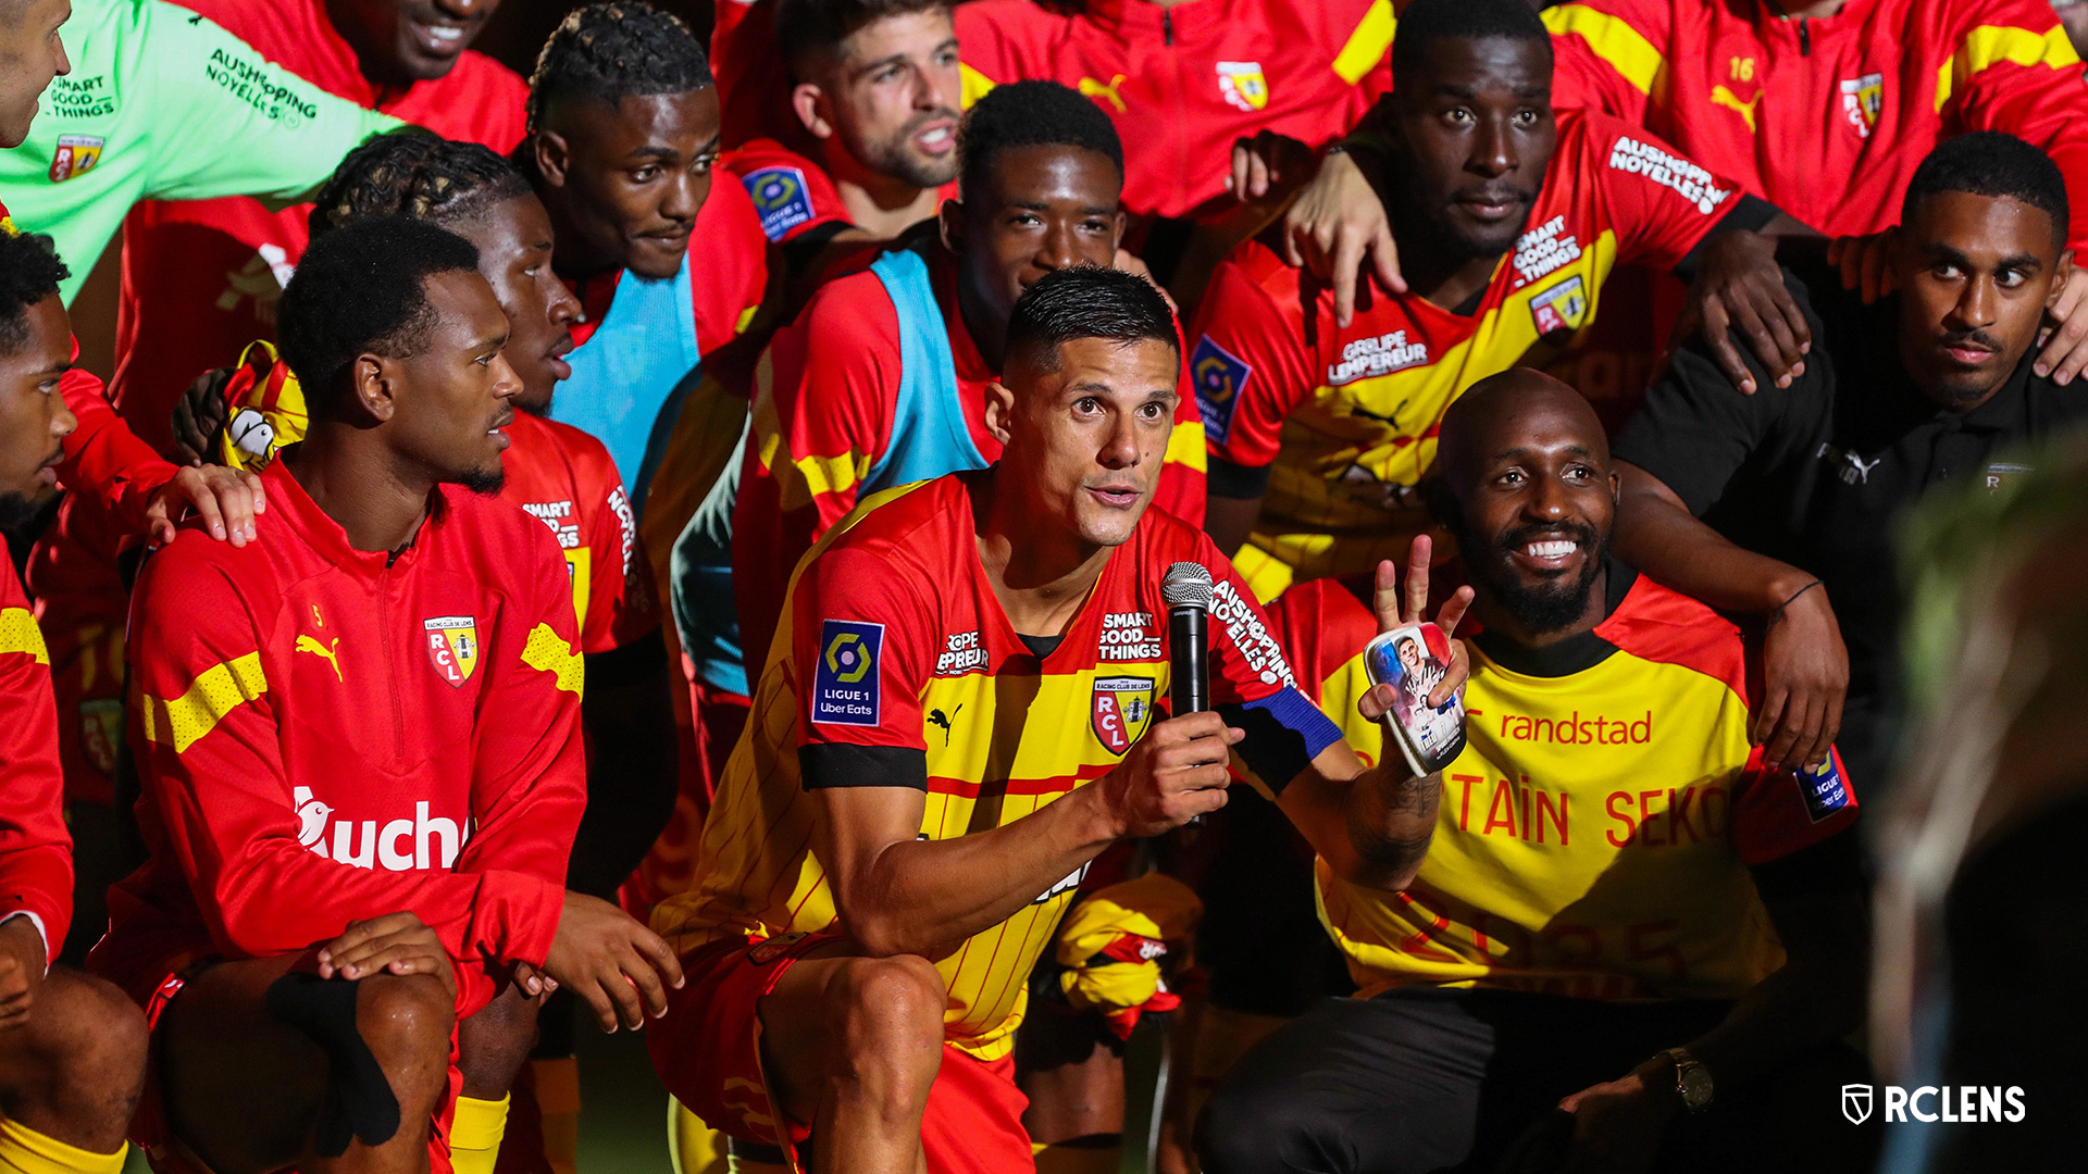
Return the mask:
[[635,0],[574,8],[530,75],[520,161],[583,307],[580,393],[551,416],[601,437],[639,510],[681,414],[677,386],[745,330],[768,286],[754,203],[737,184],[712,188],[718,117],[702,42]]

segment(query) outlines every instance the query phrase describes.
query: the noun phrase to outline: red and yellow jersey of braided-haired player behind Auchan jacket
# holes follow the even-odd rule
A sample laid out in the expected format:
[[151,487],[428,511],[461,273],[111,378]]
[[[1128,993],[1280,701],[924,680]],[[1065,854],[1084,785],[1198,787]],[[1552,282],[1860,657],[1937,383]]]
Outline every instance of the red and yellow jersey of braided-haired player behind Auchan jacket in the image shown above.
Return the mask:
[[501,499],[551,526],[572,577],[580,652],[610,652],[660,631],[639,520],[610,449],[578,428],[528,412],[516,412],[507,439]]

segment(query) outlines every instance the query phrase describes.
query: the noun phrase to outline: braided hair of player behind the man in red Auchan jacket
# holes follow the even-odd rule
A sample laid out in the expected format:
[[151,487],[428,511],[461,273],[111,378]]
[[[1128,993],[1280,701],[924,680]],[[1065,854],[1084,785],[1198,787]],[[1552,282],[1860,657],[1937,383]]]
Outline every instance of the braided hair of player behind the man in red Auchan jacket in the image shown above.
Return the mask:
[[422,130],[380,134],[351,150],[319,188],[311,236],[372,215],[455,224],[528,192],[514,163],[476,142]]

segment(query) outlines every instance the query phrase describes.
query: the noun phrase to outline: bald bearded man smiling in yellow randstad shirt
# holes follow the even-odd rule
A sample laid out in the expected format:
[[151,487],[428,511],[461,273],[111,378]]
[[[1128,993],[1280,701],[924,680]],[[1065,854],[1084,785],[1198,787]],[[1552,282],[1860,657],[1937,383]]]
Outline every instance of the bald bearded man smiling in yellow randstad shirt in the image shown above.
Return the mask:
[[[1470,742],[1405,892],[1320,865],[1361,996],[1234,1065],[1205,1170],[1869,1170],[1835,1088],[1869,1080],[1837,1040],[1867,942],[1840,760],[1762,769],[1739,631],[1608,556],[1616,474],[1579,393],[1480,380],[1437,468],[1482,625]],[[1349,717],[1372,616],[1326,579],[1274,612],[1376,746]]]

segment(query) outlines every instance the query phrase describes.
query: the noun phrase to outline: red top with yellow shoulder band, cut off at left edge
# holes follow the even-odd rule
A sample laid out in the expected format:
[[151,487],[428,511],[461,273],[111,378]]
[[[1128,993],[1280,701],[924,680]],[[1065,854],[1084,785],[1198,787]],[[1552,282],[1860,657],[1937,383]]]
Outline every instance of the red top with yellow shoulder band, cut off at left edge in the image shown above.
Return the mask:
[[[0,537],[0,554],[6,539]],[[35,921],[50,959],[73,923],[73,838],[65,829],[65,775],[58,769],[58,704],[50,694],[50,654],[29,614],[13,560],[0,566],[0,919]]]

